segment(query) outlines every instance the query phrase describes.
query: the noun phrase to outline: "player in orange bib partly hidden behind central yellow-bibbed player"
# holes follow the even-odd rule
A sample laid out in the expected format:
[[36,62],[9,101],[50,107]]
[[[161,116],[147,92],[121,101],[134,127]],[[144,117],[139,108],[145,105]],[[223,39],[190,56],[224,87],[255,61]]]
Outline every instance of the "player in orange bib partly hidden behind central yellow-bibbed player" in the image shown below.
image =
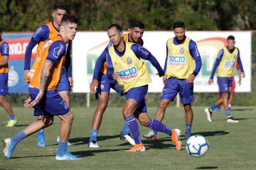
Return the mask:
[[[138,21],[138,20],[132,21],[130,24],[130,28],[128,29],[129,34],[123,34],[123,37],[122,37],[123,40],[125,42],[138,43],[143,46],[143,40],[141,38],[144,33],[144,27],[145,26],[141,21]],[[99,99],[98,106],[93,115],[91,138],[88,144],[88,147],[91,147],[91,148],[99,147],[99,145],[97,144],[97,133],[101,126],[103,113],[107,108],[110,88],[115,90],[121,96],[124,95],[122,90],[118,87],[116,81],[112,79],[108,79],[106,76],[106,73],[107,73],[106,53],[108,48],[111,46],[112,46],[112,43],[110,42],[105,48],[105,50],[102,52],[100,57],[97,59],[94,73],[93,73],[93,80],[90,84],[91,94],[95,92],[94,90],[95,86],[97,87],[95,96],[96,96],[96,99]],[[134,139],[130,133],[130,129],[126,123],[124,124],[123,130],[121,131],[119,137],[122,140],[128,141],[131,145],[135,144]]]

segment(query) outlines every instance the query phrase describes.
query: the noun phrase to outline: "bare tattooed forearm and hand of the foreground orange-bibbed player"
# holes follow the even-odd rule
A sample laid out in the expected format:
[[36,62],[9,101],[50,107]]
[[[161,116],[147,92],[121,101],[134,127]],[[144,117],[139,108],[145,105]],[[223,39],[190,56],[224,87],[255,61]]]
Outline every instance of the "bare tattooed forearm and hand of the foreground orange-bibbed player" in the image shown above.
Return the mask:
[[47,85],[47,81],[50,77],[50,73],[51,73],[51,69],[53,67],[53,62],[50,60],[46,60],[42,71],[41,71],[41,77],[40,77],[40,89],[39,89],[39,93],[36,96],[35,100],[33,100],[31,103],[27,104],[25,107],[34,107],[35,105],[38,104],[38,102],[42,99],[44,92],[45,92],[45,87]]

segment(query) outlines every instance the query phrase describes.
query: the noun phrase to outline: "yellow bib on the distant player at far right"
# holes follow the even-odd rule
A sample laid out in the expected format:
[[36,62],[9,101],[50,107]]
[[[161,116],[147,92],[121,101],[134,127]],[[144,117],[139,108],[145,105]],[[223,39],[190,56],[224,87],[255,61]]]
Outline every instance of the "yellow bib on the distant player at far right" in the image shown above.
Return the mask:
[[217,70],[218,77],[234,76],[237,56],[238,56],[238,50],[236,47],[232,53],[229,52],[227,47],[223,48],[223,56]]

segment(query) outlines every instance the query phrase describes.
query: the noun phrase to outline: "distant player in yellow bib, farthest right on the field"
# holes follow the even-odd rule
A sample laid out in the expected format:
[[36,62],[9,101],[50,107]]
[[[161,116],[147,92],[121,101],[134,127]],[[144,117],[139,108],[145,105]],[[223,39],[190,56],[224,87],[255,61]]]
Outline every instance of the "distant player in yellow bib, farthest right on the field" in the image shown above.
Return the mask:
[[207,120],[212,122],[212,112],[218,106],[224,106],[225,113],[227,115],[228,123],[238,123],[231,115],[231,109],[229,108],[229,95],[232,93],[232,81],[235,74],[236,63],[239,65],[241,76],[244,77],[244,71],[242,62],[240,59],[239,49],[235,47],[235,37],[229,36],[227,38],[227,46],[220,50],[216,62],[214,64],[211,77],[209,79],[209,85],[213,82],[213,76],[217,70],[217,80],[219,86],[219,92],[222,94],[222,98],[218,99],[210,108],[205,108],[204,112],[207,115]]

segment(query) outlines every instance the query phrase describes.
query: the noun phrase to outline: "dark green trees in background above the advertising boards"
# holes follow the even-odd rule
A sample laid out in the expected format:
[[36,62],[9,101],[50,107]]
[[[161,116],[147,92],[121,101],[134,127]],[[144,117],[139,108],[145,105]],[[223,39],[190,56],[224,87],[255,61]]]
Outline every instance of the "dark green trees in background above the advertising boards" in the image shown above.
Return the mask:
[[4,31],[34,31],[52,20],[55,3],[65,3],[79,19],[79,30],[106,30],[117,23],[124,30],[138,19],[147,30],[170,30],[177,20],[189,30],[255,30],[254,0],[1,0]]

